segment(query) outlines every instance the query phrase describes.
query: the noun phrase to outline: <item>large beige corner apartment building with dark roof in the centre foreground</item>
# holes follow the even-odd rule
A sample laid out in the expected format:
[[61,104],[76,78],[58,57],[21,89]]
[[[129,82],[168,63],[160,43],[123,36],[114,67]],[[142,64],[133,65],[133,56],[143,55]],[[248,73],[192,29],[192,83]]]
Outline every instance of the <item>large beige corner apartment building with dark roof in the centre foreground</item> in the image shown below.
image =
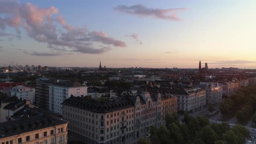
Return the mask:
[[129,98],[101,102],[70,97],[62,108],[72,139],[88,144],[121,144],[134,139],[135,107]]

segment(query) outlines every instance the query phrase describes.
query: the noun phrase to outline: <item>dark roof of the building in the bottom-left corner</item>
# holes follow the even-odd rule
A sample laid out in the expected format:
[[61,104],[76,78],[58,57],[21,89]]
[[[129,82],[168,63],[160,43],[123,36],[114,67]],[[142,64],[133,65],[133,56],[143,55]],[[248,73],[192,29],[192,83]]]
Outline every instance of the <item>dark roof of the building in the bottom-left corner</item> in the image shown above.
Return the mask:
[[[48,124],[46,124],[46,121],[48,121]],[[42,125],[39,126],[39,123],[41,123]],[[48,128],[66,123],[68,122],[65,120],[53,118],[46,115],[35,116],[31,118],[23,118],[15,121],[2,122],[0,123],[0,131],[3,131],[3,134],[0,135],[0,139],[4,137],[10,137],[16,134],[36,131],[42,128]],[[32,128],[33,124],[35,124],[35,128]],[[28,126],[28,128],[25,129],[25,126]],[[20,131],[17,131],[17,128],[20,128]],[[9,133],[9,129],[12,129],[12,132]]]

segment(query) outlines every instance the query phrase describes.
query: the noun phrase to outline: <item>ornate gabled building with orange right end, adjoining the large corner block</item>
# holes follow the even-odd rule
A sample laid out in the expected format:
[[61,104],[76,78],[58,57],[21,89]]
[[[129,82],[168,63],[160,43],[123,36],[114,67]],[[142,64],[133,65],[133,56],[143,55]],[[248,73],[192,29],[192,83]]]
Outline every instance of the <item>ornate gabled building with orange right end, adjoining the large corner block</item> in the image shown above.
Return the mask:
[[135,96],[135,138],[150,133],[150,126],[159,127],[165,124],[167,114],[177,112],[177,98],[161,93],[142,92]]

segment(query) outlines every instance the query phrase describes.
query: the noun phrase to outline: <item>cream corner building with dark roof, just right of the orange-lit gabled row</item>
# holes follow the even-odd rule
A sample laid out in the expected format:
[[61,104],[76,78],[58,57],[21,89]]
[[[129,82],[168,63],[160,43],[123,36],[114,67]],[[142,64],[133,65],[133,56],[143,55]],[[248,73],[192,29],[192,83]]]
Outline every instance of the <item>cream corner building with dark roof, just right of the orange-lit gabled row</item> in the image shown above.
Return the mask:
[[178,111],[194,113],[206,106],[206,91],[202,88],[174,89],[171,94],[177,97]]

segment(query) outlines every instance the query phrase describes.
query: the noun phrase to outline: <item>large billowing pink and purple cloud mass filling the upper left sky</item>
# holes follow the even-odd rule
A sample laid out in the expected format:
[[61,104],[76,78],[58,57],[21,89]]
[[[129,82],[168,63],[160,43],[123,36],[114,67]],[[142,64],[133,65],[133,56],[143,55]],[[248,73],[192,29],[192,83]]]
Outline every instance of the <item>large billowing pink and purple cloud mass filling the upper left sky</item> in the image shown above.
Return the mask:
[[[62,52],[80,52],[100,54],[111,50],[110,46],[125,47],[125,42],[107,36],[104,32],[89,31],[87,28],[77,28],[67,24],[62,15],[58,15],[56,7],[40,8],[32,3],[20,3],[14,0],[0,0],[0,29],[5,30],[7,26],[13,27],[17,34],[20,28],[24,28],[28,36],[37,42],[47,43],[52,53],[60,55]],[[53,15],[57,15],[53,18]],[[57,24],[64,29],[59,34]],[[0,36],[8,36],[9,40],[20,35],[6,35],[0,32]],[[99,47],[98,45],[103,45]],[[27,53],[39,56],[40,53]],[[51,56],[47,52],[41,56]]]

